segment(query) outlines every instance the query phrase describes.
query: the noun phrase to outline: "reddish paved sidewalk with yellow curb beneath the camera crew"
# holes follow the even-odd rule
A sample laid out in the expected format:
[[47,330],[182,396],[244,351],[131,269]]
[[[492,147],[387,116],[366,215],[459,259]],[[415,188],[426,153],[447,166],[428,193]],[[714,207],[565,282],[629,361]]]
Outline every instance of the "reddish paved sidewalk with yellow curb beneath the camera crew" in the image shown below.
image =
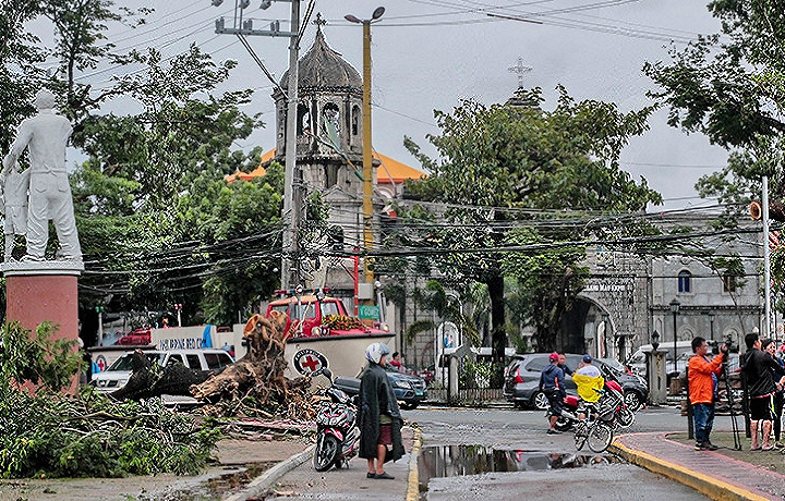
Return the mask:
[[696,451],[686,433],[630,433],[616,438],[608,449],[632,464],[722,500],[785,498],[783,456],[778,451],[749,451],[741,433],[741,451],[733,449],[730,432],[714,432],[717,451]]

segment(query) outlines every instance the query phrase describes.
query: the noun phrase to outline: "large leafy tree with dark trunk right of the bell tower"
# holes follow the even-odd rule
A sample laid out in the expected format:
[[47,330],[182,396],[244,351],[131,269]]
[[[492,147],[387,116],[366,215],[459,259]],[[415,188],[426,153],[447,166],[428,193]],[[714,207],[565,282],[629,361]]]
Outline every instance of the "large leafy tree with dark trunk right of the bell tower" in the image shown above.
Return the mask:
[[[439,159],[431,159],[407,139],[410,151],[431,172],[427,179],[407,183],[423,203],[436,203],[446,224],[420,232],[421,247],[439,249],[432,265],[464,283],[487,285],[493,321],[493,356],[504,357],[506,345],[504,274],[521,266],[505,265],[502,250],[514,243],[506,236],[510,221],[531,220],[545,210],[638,211],[649,201],[661,201],[645,181],[640,184],[619,170],[621,148],[632,135],[647,130],[651,109],[621,113],[615,105],[575,101],[558,88],[553,111],[544,111],[542,91],[532,89],[527,102],[536,106],[485,107],[462,101],[451,113],[436,111],[442,134],[428,136]],[[575,240],[575,231],[542,235],[550,242]],[[579,252],[563,257],[577,258]],[[564,269],[578,270],[577,261]],[[563,276],[540,276],[542,289],[558,289]],[[552,308],[544,307],[542,310]],[[550,321],[548,321],[550,323]],[[544,326],[542,320],[538,325]],[[555,332],[541,333],[545,349]]]

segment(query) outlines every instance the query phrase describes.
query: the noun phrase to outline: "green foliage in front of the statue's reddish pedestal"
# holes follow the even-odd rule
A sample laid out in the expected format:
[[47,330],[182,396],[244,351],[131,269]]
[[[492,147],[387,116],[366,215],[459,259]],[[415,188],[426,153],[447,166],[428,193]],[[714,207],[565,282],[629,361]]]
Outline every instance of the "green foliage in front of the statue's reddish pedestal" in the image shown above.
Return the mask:
[[33,337],[16,321],[4,323],[0,331],[0,386],[31,381],[38,384],[35,391],[39,392],[60,391],[71,384],[82,363],[77,342],[52,340],[56,332],[51,322],[38,326]]

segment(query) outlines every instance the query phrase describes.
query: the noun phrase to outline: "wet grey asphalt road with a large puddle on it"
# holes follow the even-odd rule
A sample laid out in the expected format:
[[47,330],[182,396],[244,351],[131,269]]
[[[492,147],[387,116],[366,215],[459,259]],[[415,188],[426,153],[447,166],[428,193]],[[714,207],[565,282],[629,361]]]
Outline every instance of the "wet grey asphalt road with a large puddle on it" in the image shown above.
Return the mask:
[[[423,407],[404,412],[423,432],[422,499],[706,499],[611,454],[577,452],[572,433],[548,436],[541,411]],[[629,431],[683,431],[675,408],[638,413]],[[720,416],[717,429],[730,429]],[[426,492],[425,492],[426,491]]]

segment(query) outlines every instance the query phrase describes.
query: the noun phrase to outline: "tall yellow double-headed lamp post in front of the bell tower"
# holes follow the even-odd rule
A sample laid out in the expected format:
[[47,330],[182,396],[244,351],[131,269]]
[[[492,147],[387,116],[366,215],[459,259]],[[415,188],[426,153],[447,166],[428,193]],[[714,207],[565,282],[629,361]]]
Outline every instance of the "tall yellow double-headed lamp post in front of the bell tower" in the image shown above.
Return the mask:
[[[363,25],[363,242],[365,250],[373,245],[373,144],[371,142],[371,23],[378,21],[385,12],[377,7],[370,20],[352,14],[343,16],[350,23]],[[373,282],[373,271],[365,258],[365,282]]]

